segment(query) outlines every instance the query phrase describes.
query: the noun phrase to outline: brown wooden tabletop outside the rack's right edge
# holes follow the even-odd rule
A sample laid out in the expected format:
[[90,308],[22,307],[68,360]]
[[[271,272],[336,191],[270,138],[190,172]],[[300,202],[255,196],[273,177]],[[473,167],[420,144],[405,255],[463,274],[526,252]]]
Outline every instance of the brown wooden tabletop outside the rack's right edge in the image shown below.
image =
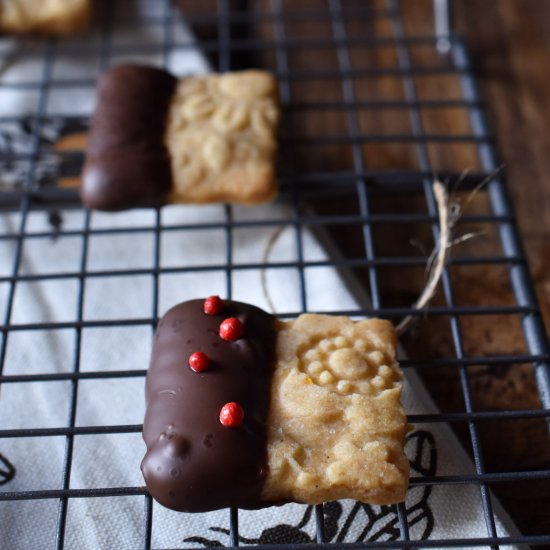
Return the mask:
[[550,3],[460,0],[547,330],[550,327]]

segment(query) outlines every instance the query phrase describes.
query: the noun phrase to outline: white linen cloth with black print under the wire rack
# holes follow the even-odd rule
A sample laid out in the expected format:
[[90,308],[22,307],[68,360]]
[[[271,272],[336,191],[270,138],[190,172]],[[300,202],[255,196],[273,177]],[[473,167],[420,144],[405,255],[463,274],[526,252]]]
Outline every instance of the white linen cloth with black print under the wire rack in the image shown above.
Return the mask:
[[[150,6],[151,3],[147,3]],[[126,32],[126,31],[125,31]],[[130,31],[128,31],[130,32]],[[178,34],[185,26],[178,23]],[[135,33],[143,30],[132,30]],[[147,39],[147,36],[143,34]],[[179,55],[181,54],[181,55]],[[130,60],[127,57],[125,61]],[[141,58],[140,60],[144,60]],[[58,58],[59,75],[94,75],[97,67]],[[122,61],[122,59],[117,59]],[[148,60],[158,63],[159,60]],[[183,50],[172,59],[172,70],[182,74],[207,70],[201,54]],[[24,79],[29,67],[40,66],[36,59],[24,59],[10,65],[4,78]],[[34,69],[32,69],[34,70]],[[53,93],[55,92],[55,93]],[[53,91],[48,112],[89,113],[94,95],[91,88],[80,90],[77,98],[63,97]],[[62,95],[56,99],[56,94]],[[0,113],[28,114],[32,102],[26,96],[2,97]],[[284,204],[253,208],[232,208],[234,220],[292,219]],[[171,206],[162,211],[165,227],[224,222],[224,207]],[[62,213],[63,230],[81,229],[82,211]],[[122,270],[150,268],[155,254],[154,212],[136,210],[120,214],[93,213],[91,228],[135,227],[139,233],[93,234],[88,243],[86,269]],[[17,233],[19,215],[0,216],[1,233]],[[48,230],[47,215],[32,212],[26,231]],[[262,290],[259,269],[239,269],[244,264],[261,263],[265,248],[277,226],[241,227],[232,232],[232,298],[268,308]],[[303,231],[303,249],[307,260],[327,260],[327,249],[309,230]],[[79,269],[84,240],[79,236],[26,238],[20,274],[75,273]],[[10,275],[15,242],[0,240],[0,276]],[[227,281],[223,266],[227,261],[227,240],[223,229],[178,229],[163,231],[160,263],[165,268],[211,266],[211,271],[171,272],[159,277],[158,313],[191,298],[211,294],[226,296]],[[289,226],[273,247],[270,263],[297,260],[294,228]],[[296,269],[272,268],[266,272],[267,287],[277,312],[302,309],[300,279]],[[354,310],[366,305],[367,297],[355,285],[349,273],[333,267],[305,270],[307,308],[311,311]],[[7,307],[8,284],[0,285],[0,315]],[[16,286],[11,323],[74,322],[78,311],[77,278],[20,282]],[[87,277],[84,282],[83,319],[116,320],[150,317],[153,307],[151,275]],[[80,355],[76,357],[76,331],[21,330],[9,333],[4,374],[71,372],[78,361],[79,370],[112,371],[145,369],[148,364],[152,331],[150,326],[86,327],[82,329]],[[436,409],[410,370],[406,371],[404,405],[409,414],[433,413]],[[24,429],[67,426],[71,382],[5,383],[0,387],[0,429]],[[77,426],[140,424],[144,414],[143,377],[81,380],[78,383]],[[0,491],[31,491],[62,487],[66,438],[0,438],[0,454],[16,468],[15,477],[0,486]],[[74,438],[70,476],[71,489],[142,486],[139,463],[144,454],[139,433],[79,435]],[[407,452],[413,460],[412,476],[459,475],[474,472],[471,461],[450,428],[442,423],[415,426]],[[0,464],[0,469],[2,465]],[[501,536],[515,529],[498,502],[496,528]],[[53,548],[56,538],[59,501],[0,501],[0,548]],[[484,537],[480,492],[476,485],[413,486],[406,502],[411,538],[431,539]],[[327,540],[394,540],[399,534],[393,507],[368,507],[351,501],[325,508]],[[259,511],[240,511],[239,526],[243,544],[259,542],[304,542],[314,540],[315,515],[311,507],[288,504]],[[68,503],[65,548],[133,549],[142,547],[144,537],[144,497],[71,498]],[[153,509],[153,548],[201,547],[228,544],[229,512],[181,514],[156,503]]]

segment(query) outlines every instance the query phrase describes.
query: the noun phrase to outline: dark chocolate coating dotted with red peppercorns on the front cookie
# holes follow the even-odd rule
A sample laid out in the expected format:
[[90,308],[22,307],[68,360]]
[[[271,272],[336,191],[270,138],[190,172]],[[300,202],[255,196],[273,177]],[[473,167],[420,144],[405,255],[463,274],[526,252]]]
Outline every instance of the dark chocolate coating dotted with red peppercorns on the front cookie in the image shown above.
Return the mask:
[[[275,318],[240,302],[224,301],[219,314],[203,300],[169,310],[161,319],[147,374],[141,470],[149,492],[168,508],[203,512],[229,506],[258,508],[267,474],[267,413],[274,361]],[[220,323],[236,317],[242,338],[220,338]],[[189,356],[209,357],[194,372]],[[239,403],[238,428],[224,427],[221,408]]]

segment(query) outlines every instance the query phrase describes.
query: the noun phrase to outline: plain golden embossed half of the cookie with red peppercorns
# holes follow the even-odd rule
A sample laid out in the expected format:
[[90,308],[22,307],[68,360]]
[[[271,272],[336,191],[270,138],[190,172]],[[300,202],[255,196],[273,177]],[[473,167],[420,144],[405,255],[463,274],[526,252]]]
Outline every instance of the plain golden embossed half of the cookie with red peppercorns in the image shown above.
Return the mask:
[[268,416],[266,501],[405,498],[407,421],[388,321],[280,323]]

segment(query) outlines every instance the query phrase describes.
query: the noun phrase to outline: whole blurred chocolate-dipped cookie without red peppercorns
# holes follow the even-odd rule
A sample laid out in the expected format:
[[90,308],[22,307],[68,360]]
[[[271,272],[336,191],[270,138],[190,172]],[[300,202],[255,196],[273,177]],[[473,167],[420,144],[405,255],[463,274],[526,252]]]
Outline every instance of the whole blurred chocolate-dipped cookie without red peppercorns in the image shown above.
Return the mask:
[[[263,71],[177,81],[160,69],[115,67],[99,85],[82,201],[111,211],[268,201],[276,194],[278,118],[276,82]],[[120,137],[116,147],[101,147],[113,134]],[[158,175],[142,173],[143,162]]]

